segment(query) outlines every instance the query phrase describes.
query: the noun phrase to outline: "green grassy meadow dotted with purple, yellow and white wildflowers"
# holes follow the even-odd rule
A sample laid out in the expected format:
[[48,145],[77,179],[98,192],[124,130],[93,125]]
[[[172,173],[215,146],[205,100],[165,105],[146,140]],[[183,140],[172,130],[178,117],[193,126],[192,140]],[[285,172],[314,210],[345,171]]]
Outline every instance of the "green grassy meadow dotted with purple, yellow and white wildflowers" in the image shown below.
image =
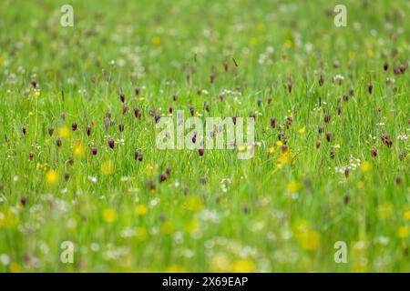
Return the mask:
[[[2,0],[0,272],[409,272],[409,13]],[[159,149],[177,110],[254,142]]]

